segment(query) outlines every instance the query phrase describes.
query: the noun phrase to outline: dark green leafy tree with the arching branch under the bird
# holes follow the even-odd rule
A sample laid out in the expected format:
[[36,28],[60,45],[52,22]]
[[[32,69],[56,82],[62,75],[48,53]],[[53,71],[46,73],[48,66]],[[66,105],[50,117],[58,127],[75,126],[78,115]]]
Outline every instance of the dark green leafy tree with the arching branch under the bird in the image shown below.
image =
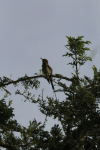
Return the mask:
[[[38,96],[35,100],[34,95],[28,91],[29,88],[37,89],[40,82],[38,78],[45,77],[45,75],[35,74],[36,76],[28,77],[25,75],[16,81],[13,81],[7,77],[0,78],[0,87],[6,94],[0,100],[0,146],[6,147],[10,150],[19,150],[21,147],[23,150],[28,148],[29,150],[98,150],[100,148],[100,113],[96,111],[98,105],[96,104],[97,98],[100,97],[100,73],[97,72],[97,68],[93,66],[94,78],[90,79],[87,76],[79,78],[78,64],[81,66],[87,60],[91,60],[90,57],[85,55],[86,50],[90,50],[84,47],[85,44],[91,43],[90,41],[82,41],[83,36],[74,38],[68,37],[68,48],[70,53],[66,53],[63,56],[68,56],[73,59],[73,62],[69,63],[76,67],[75,74],[72,73],[72,77],[64,77],[61,74],[51,75],[51,77],[57,79],[53,82],[60,86],[62,89],[55,90],[54,92],[64,92],[65,100],[59,102],[59,99],[47,97],[47,101],[43,99],[43,96]],[[61,80],[70,81],[71,84],[68,87]],[[14,116],[13,108],[10,107],[11,101],[7,106],[5,104],[5,98],[8,94],[6,87],[10,84],[18,86],[18,83],[24,86],[23,93],[20,90],[16,91],[16,94],[23,95],[26,100],[32,103],[38,103],[40,111],[45,114],[46,118],[41,125],[37,123],[36,119],[30,121],[29,127],[25,128],[17,123],[17,120],[11,120]],[[99,101],[98,101],[99,103]],[[62,134],[62,129],[58,124],[55,124],[50,133],[44,131],[47,116],[54,116],[54,119],[58,120],[62,124],[65,135]],[[13,131],[20,132],[21,138],[15,138]],[[2,137],[2,135],[4,137]],[[34,146],[34,147],[32,147]]]

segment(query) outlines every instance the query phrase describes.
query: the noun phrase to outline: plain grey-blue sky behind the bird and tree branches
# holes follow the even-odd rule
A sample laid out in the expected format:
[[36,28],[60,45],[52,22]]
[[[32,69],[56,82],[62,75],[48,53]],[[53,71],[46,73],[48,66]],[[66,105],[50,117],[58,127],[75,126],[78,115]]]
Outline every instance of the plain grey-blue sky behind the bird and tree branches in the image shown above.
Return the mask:
[[[84,36],[84,41],[91,41],[86,45],[91,50],[100,47],[100,1],[99,0],[9,0],[0,1],[0,68],[1,77],[6,76],[17,80],[25,74],[34,76],[39,73],[42,61],[40,57],[46,58],[53,68],[53,74],[62,74],[72,77],[72,66],[67,65],[72,61],[69,57],[62,57],[68,50],[66,36],[77,38]],[[90,56],[91,52],[86,52]],[[87,61],[80,67],[80,77],[84,75],[93,78],[92,66],[100,68],[99,51],[93,61]],[[40,88],[32,89],[32,94],[42,95],[44,89],[44,99],[47,96],[54,97],[52,87],[44,78],[40,78]],[[69,86],[70,83],[66,82]],[[59,87],[55,86],[57,90]],[[45,115],[41,114],[37,104],[24,102],[24,97],[15,95],[16,89],[23,92],[20,85],[15,88],[9,85],[7,89],[12,93],[6,99],[13,99],[11,107],[14,108],[15,117],[18,123],[28,127],[29,121],[36,118],[37,122],[43,123]],[[0,95],[3,97],[4,92]],[[66,97],[63,93],[56,93],[59,101]],[[21,101],[21,99],[23,101]],[[60,122],[47,118],[48,122],[44,130],[50,131],[56,123],[61,127]],[[18,136],[18,133],[15,133]]]

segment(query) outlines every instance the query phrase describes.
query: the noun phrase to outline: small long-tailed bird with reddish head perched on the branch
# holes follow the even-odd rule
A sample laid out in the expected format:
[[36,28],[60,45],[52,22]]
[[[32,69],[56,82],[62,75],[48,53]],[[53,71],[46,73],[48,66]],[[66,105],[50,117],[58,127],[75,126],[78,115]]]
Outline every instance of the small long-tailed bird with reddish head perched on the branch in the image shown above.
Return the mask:
[[52,85],[52,89],[54,90],[54,85],[52,82],[52,77],[50,77],[50,75],[52,75],[52,68],[49,66],[48,60],[47,59],[42,59],[42,72],[44,75],[46,75],[46,79],[49,82],[49,84],[51,83]]

